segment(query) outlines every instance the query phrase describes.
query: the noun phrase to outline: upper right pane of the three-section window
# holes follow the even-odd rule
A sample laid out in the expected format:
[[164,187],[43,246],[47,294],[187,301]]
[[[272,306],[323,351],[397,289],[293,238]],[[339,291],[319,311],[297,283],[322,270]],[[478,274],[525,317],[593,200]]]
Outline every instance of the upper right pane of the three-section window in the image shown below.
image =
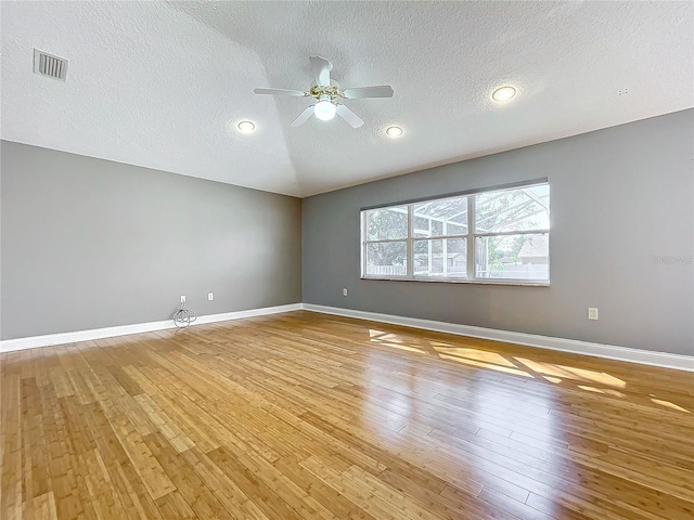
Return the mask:
[[549,184],[475,195],[476,233],[549,229]]

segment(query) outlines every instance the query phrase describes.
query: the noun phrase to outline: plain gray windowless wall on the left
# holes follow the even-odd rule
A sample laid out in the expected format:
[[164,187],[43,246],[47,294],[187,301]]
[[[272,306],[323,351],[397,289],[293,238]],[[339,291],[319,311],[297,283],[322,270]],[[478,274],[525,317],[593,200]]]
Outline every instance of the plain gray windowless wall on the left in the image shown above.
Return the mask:
[[[1,338],[301,301],[298,198],[2,142]],[[214,292],[214,301],[207,294]]]

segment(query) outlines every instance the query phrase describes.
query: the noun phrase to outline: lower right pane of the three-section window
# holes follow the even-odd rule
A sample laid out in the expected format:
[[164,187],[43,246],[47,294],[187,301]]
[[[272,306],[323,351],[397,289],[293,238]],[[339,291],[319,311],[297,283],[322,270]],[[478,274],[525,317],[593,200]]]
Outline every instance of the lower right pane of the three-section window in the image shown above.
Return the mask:
[[548,234],[484,236],[475,240],[478,278],[550,280]]

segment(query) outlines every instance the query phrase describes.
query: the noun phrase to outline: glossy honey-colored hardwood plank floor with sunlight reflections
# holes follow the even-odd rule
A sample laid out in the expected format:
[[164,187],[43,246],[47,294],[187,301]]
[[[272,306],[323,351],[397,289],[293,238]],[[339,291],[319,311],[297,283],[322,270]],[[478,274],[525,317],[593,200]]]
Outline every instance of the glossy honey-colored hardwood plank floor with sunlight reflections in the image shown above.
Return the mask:
[[3,354],[0,517],[694,517],[694,376],[306,311]]

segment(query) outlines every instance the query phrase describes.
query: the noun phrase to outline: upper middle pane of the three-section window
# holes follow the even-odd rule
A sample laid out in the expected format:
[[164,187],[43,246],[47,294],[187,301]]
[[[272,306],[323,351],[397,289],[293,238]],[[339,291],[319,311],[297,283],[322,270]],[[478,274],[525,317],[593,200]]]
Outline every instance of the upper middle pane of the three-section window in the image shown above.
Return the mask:
[[467,234],[467,197],[428,200],[414,205],[414,236]]

